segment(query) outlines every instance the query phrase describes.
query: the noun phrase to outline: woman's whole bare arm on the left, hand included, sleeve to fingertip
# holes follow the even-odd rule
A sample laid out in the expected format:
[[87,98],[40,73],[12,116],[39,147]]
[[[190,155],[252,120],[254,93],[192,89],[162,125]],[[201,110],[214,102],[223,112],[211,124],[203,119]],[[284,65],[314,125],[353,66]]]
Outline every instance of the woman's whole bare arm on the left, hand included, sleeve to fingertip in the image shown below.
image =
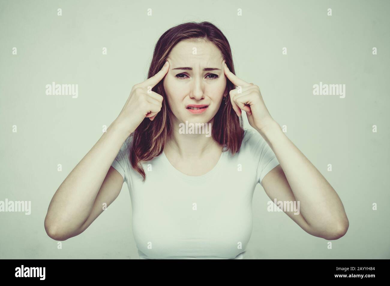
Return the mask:
[[82,233],[110,205],[121,191],[123,178],[111,164],[124,141],[140,123],[154,120],[163,97],[151,91],[169,70],[161,70],[144,82],[135,84],[115,121],[74,167],[51,199],[44,221],[46,233],[55,240],[66,240]]

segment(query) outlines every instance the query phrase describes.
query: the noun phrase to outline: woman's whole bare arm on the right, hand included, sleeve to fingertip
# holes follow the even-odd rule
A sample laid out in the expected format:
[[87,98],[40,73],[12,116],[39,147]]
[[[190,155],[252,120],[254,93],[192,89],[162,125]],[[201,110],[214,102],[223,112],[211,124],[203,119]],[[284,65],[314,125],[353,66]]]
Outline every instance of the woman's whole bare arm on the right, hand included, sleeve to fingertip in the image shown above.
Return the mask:
[[336,191],[316,167],[283,133],[264,104],[259,86],[243,81],[224,63],[226,77],[238,88],[229,92],[237,115],[246,112],[250,126],[257,130],[275,153],[280,165],[262,180],[269,198],[300,203],[300,214],[286,212],[303,230],[324,239],[339,239],[349,221]]

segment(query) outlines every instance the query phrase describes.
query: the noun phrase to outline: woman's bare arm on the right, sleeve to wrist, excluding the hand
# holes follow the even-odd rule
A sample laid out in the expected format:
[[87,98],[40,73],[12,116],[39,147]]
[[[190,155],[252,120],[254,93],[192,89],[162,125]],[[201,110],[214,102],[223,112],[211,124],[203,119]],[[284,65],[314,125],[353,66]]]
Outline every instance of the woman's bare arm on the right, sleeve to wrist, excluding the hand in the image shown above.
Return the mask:
[[311,235],[327,240],[342,237],[349,221],[340,197],[329,182],[287,138],[278,123],[270,124],[259,133],[280,162],[262,180],[268,197],[299,201],[299,214],[285,213]]

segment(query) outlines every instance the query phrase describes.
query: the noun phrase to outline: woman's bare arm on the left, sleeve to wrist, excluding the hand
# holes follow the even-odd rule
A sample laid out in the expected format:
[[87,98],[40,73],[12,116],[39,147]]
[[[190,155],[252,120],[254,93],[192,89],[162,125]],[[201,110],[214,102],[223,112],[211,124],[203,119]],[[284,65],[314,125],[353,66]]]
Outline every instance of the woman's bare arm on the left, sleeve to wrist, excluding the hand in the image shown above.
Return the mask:
[[103,202],[108,206],[119,195],[123,178],[111,164],[128,135],[114,121],[59,186],[44,221],[51,238],[66,240],[83,232],[103,211]]

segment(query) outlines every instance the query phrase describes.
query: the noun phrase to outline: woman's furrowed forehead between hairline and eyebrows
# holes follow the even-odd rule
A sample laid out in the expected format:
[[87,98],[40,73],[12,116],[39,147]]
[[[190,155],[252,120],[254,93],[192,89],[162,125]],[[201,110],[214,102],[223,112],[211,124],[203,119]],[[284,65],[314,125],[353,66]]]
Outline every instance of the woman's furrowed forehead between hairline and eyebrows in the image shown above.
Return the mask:
[[215,65],[219,67],[222,64],[222,53],[215,44],[209,41],[191,41],[182,40],[173,47],[168,55],[170,66],[191,66]]

